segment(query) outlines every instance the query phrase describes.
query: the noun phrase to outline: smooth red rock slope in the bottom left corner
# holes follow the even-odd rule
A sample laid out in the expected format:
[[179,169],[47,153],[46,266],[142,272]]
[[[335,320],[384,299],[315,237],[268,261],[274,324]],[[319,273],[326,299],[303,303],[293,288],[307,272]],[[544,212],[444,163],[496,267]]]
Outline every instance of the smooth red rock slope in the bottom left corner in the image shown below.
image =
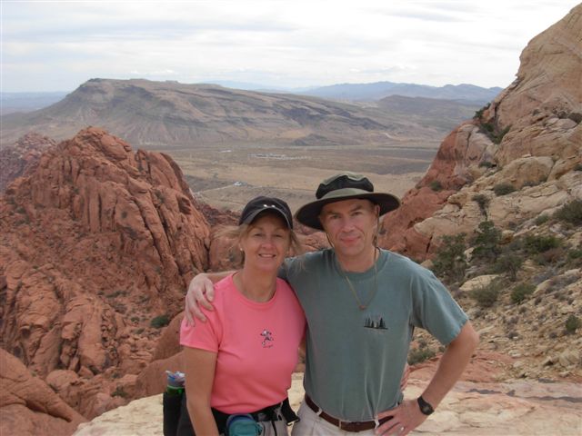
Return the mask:
[[73,434],[86,421],[45,381],[35,377],[14,356],[0,349],[0,432],[38,436]]

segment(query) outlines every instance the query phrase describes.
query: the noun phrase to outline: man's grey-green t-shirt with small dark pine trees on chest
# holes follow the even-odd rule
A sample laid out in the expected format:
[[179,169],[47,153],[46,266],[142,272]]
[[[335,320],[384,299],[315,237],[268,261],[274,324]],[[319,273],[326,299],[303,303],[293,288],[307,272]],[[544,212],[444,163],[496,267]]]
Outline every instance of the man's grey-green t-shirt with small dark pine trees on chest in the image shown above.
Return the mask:
[[396,407],[415,327],[447,345],[467,322],[432,272],[386,250],[366,272],[343,272],[333,250],[323,250],[287,259],[280,276],[306,312],[306,393],[343,421]]

